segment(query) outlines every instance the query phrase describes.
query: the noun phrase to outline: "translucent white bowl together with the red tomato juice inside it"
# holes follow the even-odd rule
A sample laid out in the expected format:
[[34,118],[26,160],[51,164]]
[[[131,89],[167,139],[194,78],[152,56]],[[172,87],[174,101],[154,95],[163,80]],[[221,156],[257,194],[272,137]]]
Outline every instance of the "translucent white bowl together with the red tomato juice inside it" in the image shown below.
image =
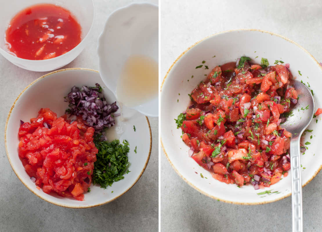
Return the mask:
[[[21,68],[33,71],[57,69],[74,60],[88,42],[94,21],[93,1],[64,0],[46,2],[32,0],[20,2],[13,0],[10,5],[3,4],[6,7],[0,16],[0,33],[7,38],[0,40],[0,53],[7,60]],[[22,15],[17,15],[27,8],[34,10],[32,13],[25,11],[27,14],[23,17]],[[47,13],[48,16],[40,14],[41,12]],[[57,14],[65,14],[65,19],[57,17]],[[17,17],[14,18],[15,16]],[[19,18],[28,19],[27,16],[37,16],[38,20],[34,19],[33,25],[30,24],[31,22],[26,23],[17,20]],[[14,21],[19,21],[18,24],[23,25],[25,28],[21,29],[19,27],[20,29],[12,33],[13,31],[10,31],[9,26]],[[62,23],[65,24],[65,29],[61,27],[60,24]],[[10,31],[11,34],[8,35],[7,33],[6,35],[6,31]],[[70,35],[68,36],[68,34]],[[23,39],[17,40],[21,36],[23,36]],[[7,43],[5,39],[7,39]],[[26,46],[28,43],[31,45]],[[17,51],[17,47],[22,48],[22,50],[18,49]]]

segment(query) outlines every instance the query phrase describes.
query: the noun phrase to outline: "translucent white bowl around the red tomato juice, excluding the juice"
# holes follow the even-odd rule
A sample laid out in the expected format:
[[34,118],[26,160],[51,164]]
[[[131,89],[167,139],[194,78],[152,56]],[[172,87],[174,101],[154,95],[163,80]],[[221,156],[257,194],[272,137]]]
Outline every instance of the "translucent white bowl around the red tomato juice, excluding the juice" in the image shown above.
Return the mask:
[[76,17],[77,21],[81,25],[82,40],[72,50],[66,52],[61,56],[57,56],[48,60],[26,60],[16,57],[7,52],[5,48],[5,40],[0,40],[0,53],[5,57],[5,59],[9,60],[11,63],[20,68],[38,72],[55,70],[74,60],[81,53],[81,51],[83,51],[88,42],[95,15],[93,0],[11,0],[10,4],[8,4],[8,1],[0,0],[0,4],[2,6],[5,6],[2,7],[0,14],[1,36],[5,36],[7,26],[15,14],[28,6],[42,3],[60,5],[68,9]]

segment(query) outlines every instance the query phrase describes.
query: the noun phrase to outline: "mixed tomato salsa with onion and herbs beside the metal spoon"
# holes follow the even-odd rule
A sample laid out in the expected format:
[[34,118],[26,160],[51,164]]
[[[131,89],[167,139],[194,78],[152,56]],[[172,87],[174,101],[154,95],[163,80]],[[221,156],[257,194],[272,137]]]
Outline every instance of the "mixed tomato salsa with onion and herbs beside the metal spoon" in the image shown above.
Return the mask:
[[192,158],[213,178],[238,186],[269,187],[287,175],[291,133],[281,123],[297,103],[292,78],[284,65],[251,64],[247,57],[237,67],[216,66],[192,91],[182,121]]

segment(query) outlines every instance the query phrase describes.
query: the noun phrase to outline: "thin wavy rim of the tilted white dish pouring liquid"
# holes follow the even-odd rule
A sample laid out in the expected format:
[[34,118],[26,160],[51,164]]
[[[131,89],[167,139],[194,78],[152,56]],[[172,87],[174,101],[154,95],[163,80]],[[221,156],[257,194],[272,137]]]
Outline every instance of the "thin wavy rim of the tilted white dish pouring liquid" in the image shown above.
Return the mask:
[[[127,10],[128,8],[131,8],[131,7],[135,7],[135,6],[148,6],[148,7],[154,7],[154,8],[157,8],[158,9],[158,12],[159,12],[159,6],[156,5],[156,4],[153,4],[153,3],[147,3],[147,2],[142,2],[142,3],[130,3],[126,6],[122,6],[120,8],[117,8],[116,10],[114,10],[113,12],[111,12],[109,14],[109,16],[107,17],[105,23],[104,23],[104,27],[103,27],[103,30],[102,32],[99,34],[99,38],[98,38],[98,44],[97,44],[97,48],[96,48],[96,51],[97,51],[97,54],[98,54],[98,57],[99,57],[99,71],[102,71],[102,68],[104,66],[104,64],[102,63],[102,57],[104,57],[104,54],[103,54],[103,50],[102,50],[102,44],[104,44],[104,34],[108,31],[108,22],[110,20],[110,18],[112,16],[114,16],[115,14],[123,11],[123,10]],[[160,22],[159,22],[160,23]],[[159,25],[158,25],[159,27]],[[104,81],[103,81],[104,82]],[[113,92],[113,94],[116,96],[116,91],[114,90],[111,90]],[[135,107],[128,107],[130,109],[134,109],[136,111],[138,111],[139,113],[145,115],[145,116],[149,116],[149,117],[158,117],[158,113],[157,114],[148,114],[146,112],[143,112],[141,109],[136,109],[137,106]]]

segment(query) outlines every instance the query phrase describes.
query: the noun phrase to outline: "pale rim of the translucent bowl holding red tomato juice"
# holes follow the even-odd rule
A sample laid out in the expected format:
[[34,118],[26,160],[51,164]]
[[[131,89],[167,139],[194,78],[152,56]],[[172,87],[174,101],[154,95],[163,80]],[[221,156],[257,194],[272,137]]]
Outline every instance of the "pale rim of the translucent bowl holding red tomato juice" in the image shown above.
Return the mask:
[[[91,0],[91,2],[92,2],[92,4],[93,4],[93,19],[92,19],[92,24],[90,25],[90,30],[88,30],[88,32],[87,32],[87,34],[84,36],[84,38],[82,38],[82,40],[81,40],[81,42],[79,42],[79,44],[77,44],[74,48],[72,48],[71,50],[69,50],[69,51],[67,51],[66,53],[64,53],[64,54],[62,54],[62,55],[60,55],[60,56],[56,56],[56,57],[54,57],[54,58],[51,58],[51,59],[47,59],[47,60],[29,60],[29,59],[24,59],[24,58],[20,58],[20,57],[17,57],[17,56],[14,56],[13,54],[11,54],[11,53],[9,53],[8,51],[6,51],[5,49],[3,49],[3,48],[1,48],[0,47],[0,50],[1,51],[4,51],[5,53],[7,53],[7,54],[9,54],[10,56],[12,56],[12,57],[14,57],[14,59],[16,59],[16,61],[15,62],[17,62],[17,61],[27,61],[27,62],[30,62],[30,63],[34,63],[34,64],[41,64],[41,63],[44,63],[44,62],[48,62],[48,60],[57,60],[57,58],[59,59],[59,58],[61,58],[62,56],[67,56],[67,54],[68,53],[70,53],[70,51],[73,51],[73,50],[76,50],[76,48],[77,47],[79,47],[79,45],[81,44],[81,43],[83,43],[87,38],[88,38],[88,36],[90,35],[90,32],[92,31],[92,29],[93,29],[93,25],[94,25],[94,22],[95,22],[95,4],[94,4],[94,0]],[[38,3],[39,4],[39,3]],[[38,4],[33,4],[33,5],[38,5]],[[49,3],[49,4],[53,4],[53,3]],[[33,5],[30,5],[30,6],[33,6]],[[53,4],[53,5],[55,5],[55,4]],[[30,7],[29,6],[29,7]],[[60,6],[62,6],[62,7],[64,7],[63,5],[60,5]],[[28,6],[27,6],[28,7]],[[66,8],[67,9],[67,8]],[[22,11],[22,10],[24,10],[24,9],[21,9],[20,11]],[[67,10],[69,10],[69,9],[67,9]],[[20,12],[19,11],[19,12]],[[18,13],[19,13],[18,12]],[[17,14],[18,14],[17,13]],[[72,12],[71,12],[71,14],[73,14]],[[76,18],[77,19],[77,18]]]

